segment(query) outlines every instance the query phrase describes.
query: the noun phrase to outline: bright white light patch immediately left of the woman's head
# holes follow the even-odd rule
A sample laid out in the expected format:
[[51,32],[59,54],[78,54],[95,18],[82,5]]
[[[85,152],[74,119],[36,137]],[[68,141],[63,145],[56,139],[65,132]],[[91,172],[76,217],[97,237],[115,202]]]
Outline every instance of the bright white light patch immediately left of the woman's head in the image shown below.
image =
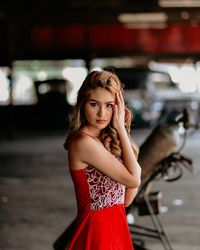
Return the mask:
[[69,90],[67,90],[67,100],[70,104],[76,102],[77,91],[87,75],[87,69],[84,67],[66,67],[62,71],[64,79],[69,81]]

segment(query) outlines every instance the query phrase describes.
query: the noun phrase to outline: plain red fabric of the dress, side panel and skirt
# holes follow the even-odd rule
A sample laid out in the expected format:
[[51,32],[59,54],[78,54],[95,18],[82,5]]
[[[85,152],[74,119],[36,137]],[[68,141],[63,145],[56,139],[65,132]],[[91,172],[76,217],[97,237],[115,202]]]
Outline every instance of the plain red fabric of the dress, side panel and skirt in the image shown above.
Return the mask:
[[133,250],[123,204],[91,209],[84,170],[72,170],[78,215],[68,250]]

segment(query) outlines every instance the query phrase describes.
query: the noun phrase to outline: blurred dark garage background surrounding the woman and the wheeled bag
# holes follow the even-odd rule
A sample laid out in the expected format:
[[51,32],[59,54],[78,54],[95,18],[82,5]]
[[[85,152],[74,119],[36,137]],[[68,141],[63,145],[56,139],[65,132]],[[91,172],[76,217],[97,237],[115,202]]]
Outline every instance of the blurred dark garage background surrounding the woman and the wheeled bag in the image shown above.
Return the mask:
[[[94,69],[124,83],[139,146],[184,108],[198,127],[200,0],[0,2],[1,250],[52,249],[75,216],[62,144],[76,92]],[[159,186],[176,250],[200,246],[199,138],[193,130],[185,148],[195,175]]]

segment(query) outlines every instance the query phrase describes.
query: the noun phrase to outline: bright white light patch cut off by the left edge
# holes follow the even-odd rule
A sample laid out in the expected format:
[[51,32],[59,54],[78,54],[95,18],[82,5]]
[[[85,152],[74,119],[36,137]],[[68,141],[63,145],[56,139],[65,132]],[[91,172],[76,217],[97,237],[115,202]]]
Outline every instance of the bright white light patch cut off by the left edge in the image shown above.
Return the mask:
[[0,68],[0,105],[9,104],[10,100],[9,89],[10,86],[6,71],[3,68]]

